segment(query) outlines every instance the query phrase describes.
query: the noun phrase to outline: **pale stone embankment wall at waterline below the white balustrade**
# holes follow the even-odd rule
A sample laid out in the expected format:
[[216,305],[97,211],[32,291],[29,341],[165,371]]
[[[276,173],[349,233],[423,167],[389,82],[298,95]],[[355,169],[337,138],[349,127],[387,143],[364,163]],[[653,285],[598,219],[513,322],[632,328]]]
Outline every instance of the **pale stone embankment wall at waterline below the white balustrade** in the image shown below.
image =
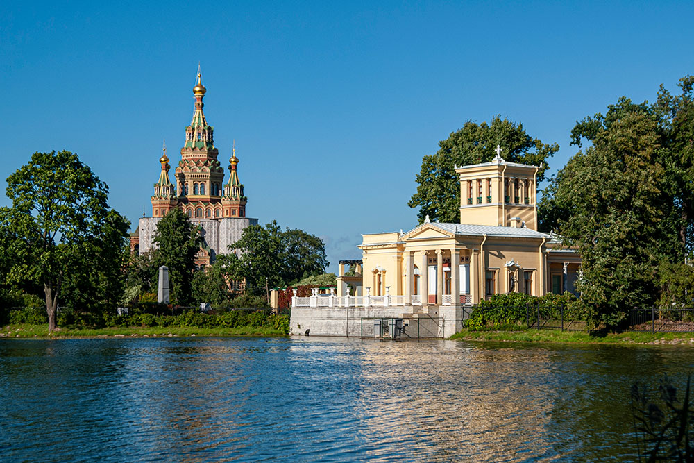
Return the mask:
[[464,317],[462,308],[452,306],[422,312],[412,307],[292,308],[289,334],[308,330],[310,336],[373,337],[375,319],[403,319],[403,338],[450,337]]

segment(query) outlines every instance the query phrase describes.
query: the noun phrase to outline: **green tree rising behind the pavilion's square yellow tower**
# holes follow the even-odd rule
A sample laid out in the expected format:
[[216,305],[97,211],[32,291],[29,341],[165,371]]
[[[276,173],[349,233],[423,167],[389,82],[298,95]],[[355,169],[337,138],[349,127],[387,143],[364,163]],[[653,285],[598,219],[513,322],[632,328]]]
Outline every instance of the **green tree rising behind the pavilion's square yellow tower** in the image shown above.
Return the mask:
[[491,124],[467,121],[462,128],[439,142],[439,151],[425,155],[416,177],[417,192],[409,200],[410,208],[419,208],[420,223],[425,216],[431,220],[455,223],[460,219],[460,185],[455,165],[489,162],[502,148],[502,158],[509,162],[539,166],[537,182],[544,179],[547,158],[559,151],[559,145],[544,144],[525,132],[523,124],[493,117]]

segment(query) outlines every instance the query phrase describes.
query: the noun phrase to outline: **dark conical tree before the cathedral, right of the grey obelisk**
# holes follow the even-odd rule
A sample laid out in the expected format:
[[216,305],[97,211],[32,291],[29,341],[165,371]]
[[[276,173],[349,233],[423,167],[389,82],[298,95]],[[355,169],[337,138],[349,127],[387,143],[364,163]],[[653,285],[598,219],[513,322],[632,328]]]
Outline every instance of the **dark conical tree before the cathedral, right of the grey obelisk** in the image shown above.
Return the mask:
[[195,255],[202,243],[199,227],[188,220],[183,210],[171,209],[158,222],[154,243],[153,267],[158,269],[166,265],[169,268],[171,302],[191,303]]

